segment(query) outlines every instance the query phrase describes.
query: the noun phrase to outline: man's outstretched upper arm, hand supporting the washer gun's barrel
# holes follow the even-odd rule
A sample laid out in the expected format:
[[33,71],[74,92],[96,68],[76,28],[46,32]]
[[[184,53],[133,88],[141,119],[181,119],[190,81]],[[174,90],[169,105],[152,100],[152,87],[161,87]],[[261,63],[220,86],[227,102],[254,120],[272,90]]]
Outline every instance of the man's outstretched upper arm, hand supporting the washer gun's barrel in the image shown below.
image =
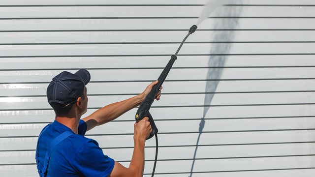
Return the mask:
[[[102,125],[109,121],[112,121],[132,108],[139,106],[144,98],[149,94],[152,87],[156,85],[158,81],[152,82],[141,94],[124,101],[109,104],[103,108],[98,109],[93,114],[86,118],[82,118],[87,123],[87,131],[91,130],[95,126]],[[161,88],[162,89],[162,88]],[[157,95],[157,100],[160,98],[160,91]]]

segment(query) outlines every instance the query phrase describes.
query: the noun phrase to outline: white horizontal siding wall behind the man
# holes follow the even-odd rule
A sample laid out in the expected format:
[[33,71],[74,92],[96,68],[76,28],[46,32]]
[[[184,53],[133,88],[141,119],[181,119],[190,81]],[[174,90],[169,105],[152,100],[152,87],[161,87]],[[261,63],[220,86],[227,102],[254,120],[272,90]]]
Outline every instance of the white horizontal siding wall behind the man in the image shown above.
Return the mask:
[[[189,36],[154,102],[155,176],[313,177],[315,2],[233,2]],[[37,136],[54,119],[45,97],[52,77],[91,72],[87,114],[140,93],[205,3],[0,0],[0,176],[38,176]],[[126,166],[135,112],[87,132]],[[149,177],[154,138],[146,147]]]

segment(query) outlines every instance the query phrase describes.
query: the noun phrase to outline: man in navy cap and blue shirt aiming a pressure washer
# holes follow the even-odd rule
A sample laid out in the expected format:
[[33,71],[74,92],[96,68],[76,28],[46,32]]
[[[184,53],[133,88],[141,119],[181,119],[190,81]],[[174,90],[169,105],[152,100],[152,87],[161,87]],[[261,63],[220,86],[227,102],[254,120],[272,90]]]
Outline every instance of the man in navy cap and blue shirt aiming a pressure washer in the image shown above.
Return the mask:
[[[152,87],[121,102],[107,105],[82,118],[88,107],[87,88],[90,73],[63,71],[47,87],[47,98],[56,118],[41,131],[36,148],[36,164],[41,177],[142,177],[144,147],[152,129],[148,118],[134,123],[134,149],[128,168],[103,154],[95,140],[84,137],[95,126],[118,118],[140,105]],[[161,88],[162,89],[162,88]],[[160,91],[156,97],[160,98]]]

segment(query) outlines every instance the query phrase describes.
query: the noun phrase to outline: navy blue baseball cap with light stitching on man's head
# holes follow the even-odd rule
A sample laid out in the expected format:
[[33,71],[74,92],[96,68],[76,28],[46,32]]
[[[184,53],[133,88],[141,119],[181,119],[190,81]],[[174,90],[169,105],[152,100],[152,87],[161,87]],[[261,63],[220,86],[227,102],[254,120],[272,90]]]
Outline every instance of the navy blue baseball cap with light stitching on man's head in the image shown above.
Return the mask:
[[[55,104],[52,105],[51,103],[59,103],[64,108],[69,107],[77,102],[90,79],[91,75],[86,69],[80,69],[74,74],[63,71],[54,77],[47,87],[48,103],[52,107]],[[58,108],[61,107],[58,106]]]

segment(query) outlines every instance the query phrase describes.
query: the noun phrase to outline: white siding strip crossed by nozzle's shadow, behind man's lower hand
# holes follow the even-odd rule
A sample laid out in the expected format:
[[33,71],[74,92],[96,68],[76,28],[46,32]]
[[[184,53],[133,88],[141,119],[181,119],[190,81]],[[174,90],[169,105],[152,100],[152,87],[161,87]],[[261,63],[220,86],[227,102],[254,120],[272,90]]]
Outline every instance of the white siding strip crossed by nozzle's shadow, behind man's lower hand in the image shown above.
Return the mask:
[[[129,120],[133,120],[130,117]],[[158,120],[158,118],[157,118]],[[305,125],[304,122],[308,122]],[[237,131],[267,131],[288,129],[315,129],[315,118],[273,118],[273,119],[219,119],[205,120],[204,132],[237,132]],[[29,124],[2,124],[0,125],[1,137],[37,136],[47,123]],[[132,134],[133,121],[112,122],[103,126],[95,127],[87,135],[97,134]],[[194,133],[198,132],[200,120],[181,121],[157,121],[160,133]],[[177,127],[180,124],[181,126]],[[177,128],[174,128],[177,127]]]

